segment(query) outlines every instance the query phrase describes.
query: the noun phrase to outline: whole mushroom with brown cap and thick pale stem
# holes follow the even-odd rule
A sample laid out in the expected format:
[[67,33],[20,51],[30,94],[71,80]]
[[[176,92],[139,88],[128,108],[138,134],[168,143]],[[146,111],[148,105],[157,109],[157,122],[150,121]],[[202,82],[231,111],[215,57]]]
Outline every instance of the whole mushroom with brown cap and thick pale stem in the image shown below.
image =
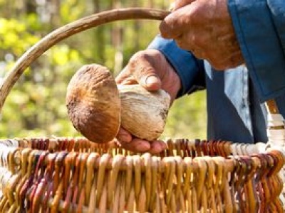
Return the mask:
[[108,68],[85,65],[68,84],[68,116],[83,136],[95,143],[112,141],[121,126],[134,136],[153,141],[164,127],[170,95],[135,85],[117,85]]

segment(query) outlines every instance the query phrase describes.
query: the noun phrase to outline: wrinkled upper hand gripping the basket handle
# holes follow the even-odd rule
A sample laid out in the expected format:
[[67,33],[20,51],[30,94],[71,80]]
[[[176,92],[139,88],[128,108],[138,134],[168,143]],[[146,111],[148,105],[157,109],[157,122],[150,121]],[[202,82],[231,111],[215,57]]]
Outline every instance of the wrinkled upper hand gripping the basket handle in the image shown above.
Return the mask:
[[208,60],[217,70],[244,62],[227,0],[177,0],[172,13],[160,23],[160,33],[197,58]]

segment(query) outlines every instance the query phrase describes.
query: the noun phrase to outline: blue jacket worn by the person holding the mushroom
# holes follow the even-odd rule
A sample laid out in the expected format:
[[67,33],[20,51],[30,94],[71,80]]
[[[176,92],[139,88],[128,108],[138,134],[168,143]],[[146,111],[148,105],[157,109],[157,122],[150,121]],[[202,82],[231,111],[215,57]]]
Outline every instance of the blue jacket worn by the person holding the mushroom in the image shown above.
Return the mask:
[[264,101],[275,99],[285,117],[285,1],[229,0],[228,6],[247,66],[214,70],[160,36],[149,48],[160,50],[175,67],[182,82],[179,96],[207,89],[208,139],[266,142]]

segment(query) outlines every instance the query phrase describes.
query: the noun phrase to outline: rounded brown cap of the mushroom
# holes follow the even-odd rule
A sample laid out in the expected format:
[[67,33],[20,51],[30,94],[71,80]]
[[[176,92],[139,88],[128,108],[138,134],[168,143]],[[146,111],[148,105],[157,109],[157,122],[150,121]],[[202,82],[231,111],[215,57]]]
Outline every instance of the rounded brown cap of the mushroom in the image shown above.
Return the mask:
[[73,126],[95,143],[112,141],[120,127],[120,98],[113,76],[101,65],[84,65],[71,78],[66,107]]

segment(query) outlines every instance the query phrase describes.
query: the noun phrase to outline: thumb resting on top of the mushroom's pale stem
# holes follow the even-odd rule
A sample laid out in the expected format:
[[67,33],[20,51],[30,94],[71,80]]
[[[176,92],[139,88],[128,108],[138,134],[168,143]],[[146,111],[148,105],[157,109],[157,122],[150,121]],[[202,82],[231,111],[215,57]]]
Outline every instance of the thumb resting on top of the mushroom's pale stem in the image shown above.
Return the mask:
[[135,80],[145,89],[153,91],[161,88],[160,78],[157,76],[155,67],[152,65],[151,56],[138,53],[130,59],[129,69]]

